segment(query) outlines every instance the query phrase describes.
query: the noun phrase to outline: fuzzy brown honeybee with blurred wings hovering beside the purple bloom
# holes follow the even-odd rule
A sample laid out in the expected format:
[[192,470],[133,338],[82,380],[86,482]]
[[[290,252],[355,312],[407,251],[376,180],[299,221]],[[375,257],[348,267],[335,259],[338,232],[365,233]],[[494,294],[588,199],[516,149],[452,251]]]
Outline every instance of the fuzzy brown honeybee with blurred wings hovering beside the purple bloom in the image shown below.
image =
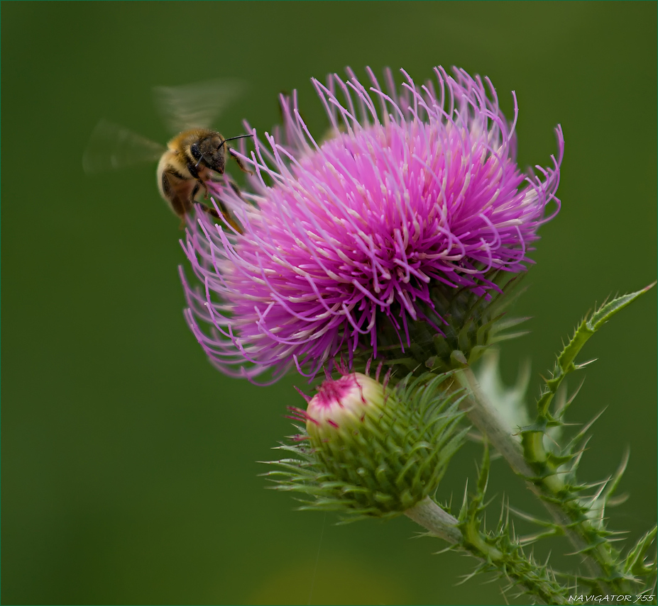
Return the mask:
[[[231,156],[243,172],[251,174],[241,159],[231,154],[227,142],[253,135],[224,138],[209,128],[213,118],[238,96],[240,89],[240,84],[224,80],[156,88],[156,104],[170,129],[179,134],[165,148],[131,130],[102,120],[94,129],[82,157],[84,170],[95,173],[159,159],[156,171],[158,191],[184,225],[199,193],[207,198],[209,181],[224,174],[227,156]],[[231,183],[231,187],[239,194],[235,184]],[[241,232],[221,201],[218,202],[221,214],[202,202],[199,206],[214,218],[221,216],[234,230]]]

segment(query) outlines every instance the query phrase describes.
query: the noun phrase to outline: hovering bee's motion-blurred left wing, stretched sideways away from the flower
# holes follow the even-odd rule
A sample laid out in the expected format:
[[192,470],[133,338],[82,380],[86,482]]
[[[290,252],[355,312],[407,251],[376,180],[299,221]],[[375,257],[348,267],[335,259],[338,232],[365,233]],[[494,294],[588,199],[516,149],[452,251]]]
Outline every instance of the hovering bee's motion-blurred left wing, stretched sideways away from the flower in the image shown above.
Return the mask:
[[153,162],[165,147],[123,126],[101,120],[94,128],[89,145],[82,155],[82,168],[87,173],[104,172]]

